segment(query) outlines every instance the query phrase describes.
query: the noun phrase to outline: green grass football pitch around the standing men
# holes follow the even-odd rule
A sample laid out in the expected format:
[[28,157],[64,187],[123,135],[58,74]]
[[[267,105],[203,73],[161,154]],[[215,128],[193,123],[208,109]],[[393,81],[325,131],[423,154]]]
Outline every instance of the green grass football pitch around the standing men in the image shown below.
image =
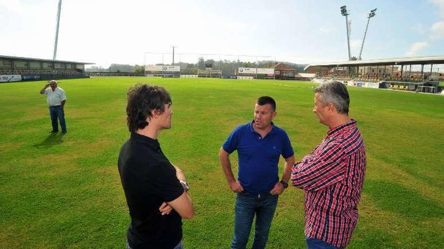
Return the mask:
[[[51,129],[45,82],[0,84],[0,248],[124,248],[128,208],[117,171],[128,138],[126,91],[135,82],[167,88],[173,127],[160,134],[182,168],[196,215],[184,220],[186,248],[228,248],[235,195],[217,153],[262,95],[296,159],[327,128],[312,113],[313,84],[229,79],[108,77],[60,80],[68,133]],[[444,97],[349,88],[350,116],[367,146],[360,217],[348,248],[444,247]],[[232,162],[237,167],[237,154]],[[280,167],[282,172],[283,160]],[[236,169],[234,170],[236,172]],[[305,248],[303,191],[280,197],[267,248]],[[251,239],[250,239],[251,240]],[[251,246],[251,242],[249,243]]]

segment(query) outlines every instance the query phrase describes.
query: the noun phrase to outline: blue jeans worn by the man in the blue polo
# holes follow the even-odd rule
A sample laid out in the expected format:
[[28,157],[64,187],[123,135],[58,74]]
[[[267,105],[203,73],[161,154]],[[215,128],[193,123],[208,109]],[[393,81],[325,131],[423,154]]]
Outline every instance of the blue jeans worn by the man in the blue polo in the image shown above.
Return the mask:
[[243,249],[247,245],[254,215],[256,225],[252,248],[265,248],[278,198],[278,195],[269,193],[250,194],[244,191],[237,194],[232,249]]

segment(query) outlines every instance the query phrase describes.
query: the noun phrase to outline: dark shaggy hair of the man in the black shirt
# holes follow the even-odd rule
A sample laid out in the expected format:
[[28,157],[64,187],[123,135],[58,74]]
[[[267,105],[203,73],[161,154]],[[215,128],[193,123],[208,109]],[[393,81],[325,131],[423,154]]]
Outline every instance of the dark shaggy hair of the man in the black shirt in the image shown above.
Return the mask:
[[151,111],[163,113],[165,104],[173,103],[170,93],[162,87],[137,83],[127,92],[127,122],[130,132],[143,129],[148,125],[146,119],[151,117]]

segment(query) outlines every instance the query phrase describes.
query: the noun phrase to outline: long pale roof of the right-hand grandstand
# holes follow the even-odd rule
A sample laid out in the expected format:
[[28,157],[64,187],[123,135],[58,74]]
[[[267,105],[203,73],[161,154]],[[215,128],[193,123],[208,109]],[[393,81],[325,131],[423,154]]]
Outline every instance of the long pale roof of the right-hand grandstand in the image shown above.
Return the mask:
[[335,67],[335,66],[372,66],[372,65],[421,65],[421,64],[444,64],[444,56],[423,56],[423,57],[401,57],[376,60],[346,60],[336,62],[324,62],[309,64],[304,70],[315,69],[315,67]]

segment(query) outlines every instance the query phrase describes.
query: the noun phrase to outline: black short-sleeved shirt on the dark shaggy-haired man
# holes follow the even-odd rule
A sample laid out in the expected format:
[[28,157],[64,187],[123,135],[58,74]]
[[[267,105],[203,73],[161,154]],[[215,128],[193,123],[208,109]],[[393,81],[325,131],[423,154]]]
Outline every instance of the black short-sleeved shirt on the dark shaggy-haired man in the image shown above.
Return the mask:
[[159,207],[177,199],[184,189],[158,141],[131,133],[120,150],[118,168],[130,209],[129,245],[174,248],[182,239],[182,218],[175,210],[161,215]]

